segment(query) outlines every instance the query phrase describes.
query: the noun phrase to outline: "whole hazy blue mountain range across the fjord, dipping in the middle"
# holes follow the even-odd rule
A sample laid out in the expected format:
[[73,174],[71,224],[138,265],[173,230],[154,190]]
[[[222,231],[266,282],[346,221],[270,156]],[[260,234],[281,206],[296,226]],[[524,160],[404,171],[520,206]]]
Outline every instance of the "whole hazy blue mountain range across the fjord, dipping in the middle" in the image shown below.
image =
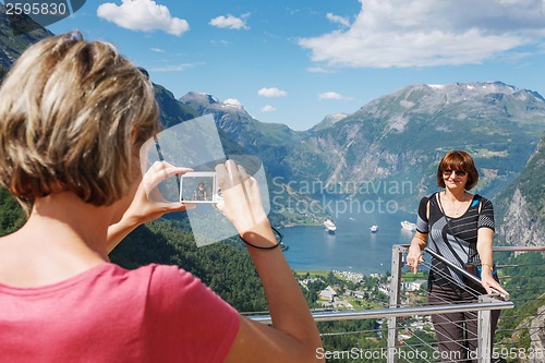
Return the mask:
[[522,171],[545,131],[544,98],[501,82],[410,85],[306,132],[262,123],[210,95],[190,93],[181,101],[213,113],[295,191],[362,201],[380,195],[408,210],[436,189],[437,161],[447,150],[474,156],[477,192],[493,197]]

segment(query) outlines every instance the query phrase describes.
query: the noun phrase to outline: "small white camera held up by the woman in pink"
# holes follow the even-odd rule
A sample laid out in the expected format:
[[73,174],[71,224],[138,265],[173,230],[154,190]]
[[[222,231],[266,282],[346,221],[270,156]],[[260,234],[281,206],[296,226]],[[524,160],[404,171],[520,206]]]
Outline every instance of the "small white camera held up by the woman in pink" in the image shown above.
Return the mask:
[[192,171],[182,176],[180,181],[180,202],[218,203],[221,191],[215,171]]

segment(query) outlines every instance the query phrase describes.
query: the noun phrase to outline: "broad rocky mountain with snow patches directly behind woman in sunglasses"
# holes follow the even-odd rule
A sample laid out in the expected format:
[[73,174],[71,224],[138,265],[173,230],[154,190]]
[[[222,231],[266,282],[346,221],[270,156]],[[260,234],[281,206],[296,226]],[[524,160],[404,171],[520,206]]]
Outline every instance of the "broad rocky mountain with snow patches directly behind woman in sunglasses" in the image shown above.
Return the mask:
[[[300,153],[332,152],[323,157],[330,160],[327,182],[409,172],[411,166],[433,164],[455,148],[469,149],[484,161],[483,168],[498,171],[491,159],[528,160],[545,130],[544,118],[541,96],[499,82],[416,84],[368,102],[331,130],[310,135],[303,142],[306,150]],[[520,172],[520,162],[509,164],[502,171]]]

